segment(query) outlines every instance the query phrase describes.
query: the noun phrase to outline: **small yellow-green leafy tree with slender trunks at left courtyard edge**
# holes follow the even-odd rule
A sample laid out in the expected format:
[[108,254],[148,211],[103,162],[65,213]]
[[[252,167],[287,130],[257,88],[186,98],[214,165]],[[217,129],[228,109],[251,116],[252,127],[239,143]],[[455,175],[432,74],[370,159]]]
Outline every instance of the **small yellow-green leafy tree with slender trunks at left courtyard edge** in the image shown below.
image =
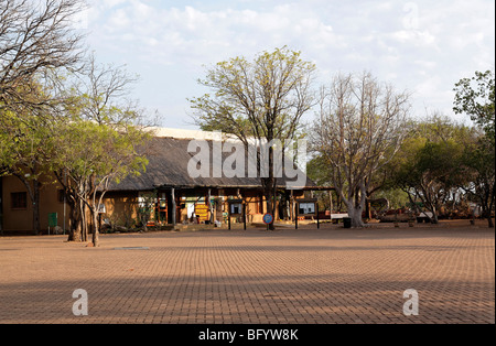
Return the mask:
[[[88,208],[95,246],[99,245],[98,213],[110,184],[145,170],[148,160],[137,153],[137,147],[144,138],[144,133],[131,126],[120,132],[87,120],[72,121],[58,128],[56,156],[52,163],[60,167],[57,171],[63,174],[57,173],[60,179],[66,180],[66,191],[82,209],[77,215],[83,220],[84,207]],[[74,231],[71,240],[79,237]]]

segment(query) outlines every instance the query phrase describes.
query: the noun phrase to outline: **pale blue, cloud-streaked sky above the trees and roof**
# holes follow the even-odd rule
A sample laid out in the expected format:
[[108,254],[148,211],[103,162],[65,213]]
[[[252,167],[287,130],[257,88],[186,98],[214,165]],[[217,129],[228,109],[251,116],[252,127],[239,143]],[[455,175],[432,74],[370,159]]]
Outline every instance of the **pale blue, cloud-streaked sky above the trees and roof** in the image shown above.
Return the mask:
[[[88,0],[80,28],[103,63],[126,64],[160,126],[195,129],[187,98],[209,64],[288,46],[338,72],[370,72],[412,93],[412,116],[452,112],[453,86],[495,66],[495,1]],[[306,120],[312,120],[309,113]]]

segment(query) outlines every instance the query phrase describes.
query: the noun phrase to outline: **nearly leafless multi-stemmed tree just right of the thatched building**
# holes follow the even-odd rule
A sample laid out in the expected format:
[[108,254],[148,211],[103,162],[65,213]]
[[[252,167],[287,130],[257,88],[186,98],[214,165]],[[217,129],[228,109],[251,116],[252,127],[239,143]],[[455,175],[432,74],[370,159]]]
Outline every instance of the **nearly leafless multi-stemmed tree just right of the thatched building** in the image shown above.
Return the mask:
[[364,226],[362,213],[373,175],[405,138],[408,100],[407,93],[395,93],[368,73],[358,78],[338,75],[321,89],[312,148],[328,164],[353,227]]

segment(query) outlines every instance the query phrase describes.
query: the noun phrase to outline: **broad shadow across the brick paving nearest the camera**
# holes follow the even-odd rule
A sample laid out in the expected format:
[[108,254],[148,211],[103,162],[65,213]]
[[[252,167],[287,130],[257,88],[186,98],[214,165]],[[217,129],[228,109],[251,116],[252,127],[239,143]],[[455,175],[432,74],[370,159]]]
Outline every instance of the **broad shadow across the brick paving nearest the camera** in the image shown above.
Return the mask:
[[[173,322],[193,315],[200,323],[213,323],[214,315],[223,314],[226,320],[236,316],[240,323],[252,322],[254,316],[260,316],[258,323],[274,316],[278,321],[322,323],[366,316],[376,323],[395,323],[405,321],[402,294],[411,288],[419,292],[422,316],[431,318],[427,321],[494,323],[494,283],[382,281],[352,274],[137,274],[107,280],[1,283],[0,323],[122,323],[129,317],[145,321],[150,316]],[[85,320],[72,313],[76,289],[88,293],[89,314]]]

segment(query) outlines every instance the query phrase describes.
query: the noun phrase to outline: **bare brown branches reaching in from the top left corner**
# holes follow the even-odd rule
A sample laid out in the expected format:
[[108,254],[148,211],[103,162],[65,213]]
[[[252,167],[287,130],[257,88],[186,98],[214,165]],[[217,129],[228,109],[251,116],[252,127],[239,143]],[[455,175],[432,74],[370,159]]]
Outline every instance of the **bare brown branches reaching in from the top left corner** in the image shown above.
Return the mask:
[[51,69],[76,68],[83,34],[73,22],[84,9],[82,0],[0,0],[0,110],[51,101],[32,88]]

